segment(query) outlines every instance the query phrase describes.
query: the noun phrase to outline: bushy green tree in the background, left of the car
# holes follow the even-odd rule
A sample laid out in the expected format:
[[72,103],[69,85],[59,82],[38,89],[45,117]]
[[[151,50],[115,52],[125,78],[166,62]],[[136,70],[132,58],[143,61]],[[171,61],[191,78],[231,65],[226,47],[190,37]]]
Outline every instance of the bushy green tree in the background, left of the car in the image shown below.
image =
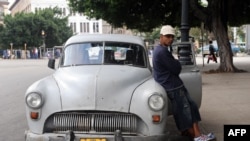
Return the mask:
[[47,8],[36,13],[6,15],[4,26],[0,28],[0,44],[4,48],[9,47],[10,43],[14,44],[14,48],[22,48],[24,43],[30,47],[39,47],[43,42],[42,30],[45,31],[45,44],[48,48],[62,45],[73,35],[67,17],[61,16],[57,8]]

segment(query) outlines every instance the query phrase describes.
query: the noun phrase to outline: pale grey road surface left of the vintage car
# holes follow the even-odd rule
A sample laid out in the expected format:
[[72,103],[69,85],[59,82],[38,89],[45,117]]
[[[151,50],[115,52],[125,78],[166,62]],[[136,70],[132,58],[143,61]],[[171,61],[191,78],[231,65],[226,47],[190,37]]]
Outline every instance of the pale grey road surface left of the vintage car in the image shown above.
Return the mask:
[[24,93],[36,80],[50,74],[45,60],[0,60],[0,140],[22,141],[28,129]]

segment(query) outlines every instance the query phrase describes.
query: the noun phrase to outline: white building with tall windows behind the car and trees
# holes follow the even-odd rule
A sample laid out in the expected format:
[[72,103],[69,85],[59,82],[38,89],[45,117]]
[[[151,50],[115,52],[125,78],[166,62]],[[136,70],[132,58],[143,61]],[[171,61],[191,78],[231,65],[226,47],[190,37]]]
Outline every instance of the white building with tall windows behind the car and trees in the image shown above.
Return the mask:
[[89,19],[81,13],[72,12],[68,6],[67,0],[16,0],[9,8],[12,15],[18,12],[36,12],[45,8],[58,7],[62,10],[63,15],[69,16],[68,24],[72,28],[74,34],[80,33],[97,33],[97,34],[131,34],[126,28],[113,29],[107,22],[103,20]]

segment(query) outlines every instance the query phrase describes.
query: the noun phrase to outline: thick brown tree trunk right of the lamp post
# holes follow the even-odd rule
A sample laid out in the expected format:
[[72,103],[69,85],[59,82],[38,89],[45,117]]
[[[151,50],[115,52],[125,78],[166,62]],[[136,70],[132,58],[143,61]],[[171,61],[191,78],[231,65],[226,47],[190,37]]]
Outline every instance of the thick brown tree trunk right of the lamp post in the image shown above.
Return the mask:
[[211,30],[217,40],[220,65],[219,72],[238,72],[239,70],[233,64],[233,53],[228,38],[226,0],[210,0],[210,6],[213,7],[211,13]]

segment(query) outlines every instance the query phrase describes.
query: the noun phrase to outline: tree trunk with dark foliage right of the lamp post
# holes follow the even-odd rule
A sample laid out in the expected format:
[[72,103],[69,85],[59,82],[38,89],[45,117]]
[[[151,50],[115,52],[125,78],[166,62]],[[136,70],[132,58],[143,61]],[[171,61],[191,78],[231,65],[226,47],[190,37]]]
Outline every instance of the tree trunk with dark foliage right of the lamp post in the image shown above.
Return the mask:
[[212,31],[219,45],[220,66],[218,71],[241,71],[233,65],[233,53],[227,36],[228,25],[240,26],[250,22],[248,18],[250,1],[208,0],[206,9],[199,8],[196,4],[195,0],[191,0],[194,15],[206,24],[208,30]]

